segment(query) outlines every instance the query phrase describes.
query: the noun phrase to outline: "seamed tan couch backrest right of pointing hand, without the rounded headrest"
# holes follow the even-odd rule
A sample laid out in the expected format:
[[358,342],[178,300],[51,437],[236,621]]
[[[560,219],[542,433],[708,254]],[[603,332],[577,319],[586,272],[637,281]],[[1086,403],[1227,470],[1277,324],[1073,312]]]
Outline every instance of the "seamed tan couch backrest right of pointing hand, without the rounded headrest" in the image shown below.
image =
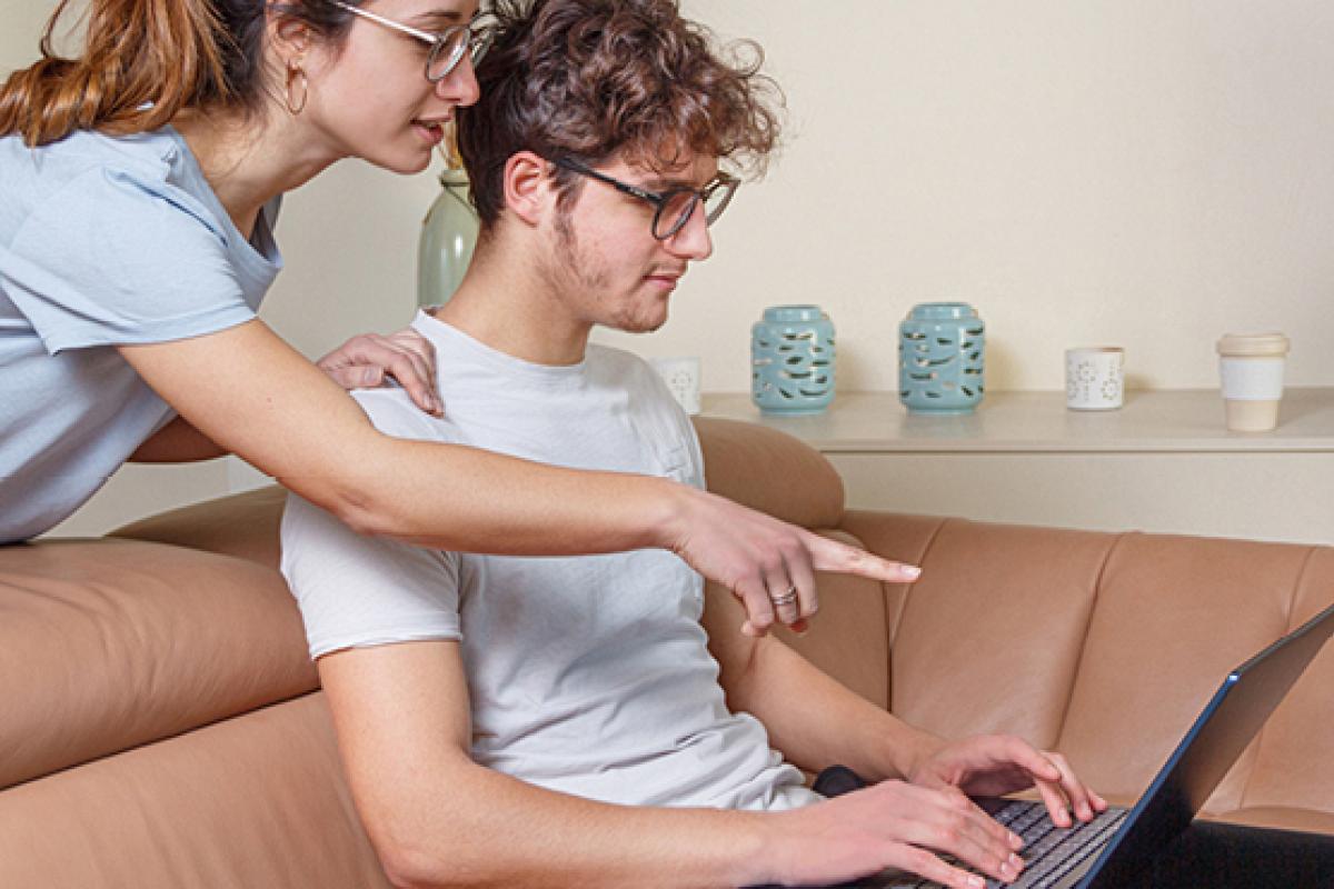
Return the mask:
[[[868,512],[842,526],[923,566],[918,584],[886,590],[895,713],[951,737],[1010,732],[1061,749],[1122,800],[1147,786],[1229,669],[1334,602],[1334,549],[1322,546]],[[1318,817],[1334,816],[1331,688],[1334,646],[1206,810],[1307,808],[1311,826],[1334,828]]]

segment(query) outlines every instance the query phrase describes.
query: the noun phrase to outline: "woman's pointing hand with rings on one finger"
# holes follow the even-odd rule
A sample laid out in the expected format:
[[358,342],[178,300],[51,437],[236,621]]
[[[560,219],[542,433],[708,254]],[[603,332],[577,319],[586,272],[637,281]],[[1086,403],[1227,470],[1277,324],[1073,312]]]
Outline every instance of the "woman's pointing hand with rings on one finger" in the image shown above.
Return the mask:
[[914,565],[820,537],[724,497],[694,488],[683,490],[691,496],[678,513],[667,545],[744,604],[742,632],[748,636],[763,636],[775,620],[798,632],[806,629],[806,621],[819,609],[818,570],[888,584],[911,584],[922,573]]

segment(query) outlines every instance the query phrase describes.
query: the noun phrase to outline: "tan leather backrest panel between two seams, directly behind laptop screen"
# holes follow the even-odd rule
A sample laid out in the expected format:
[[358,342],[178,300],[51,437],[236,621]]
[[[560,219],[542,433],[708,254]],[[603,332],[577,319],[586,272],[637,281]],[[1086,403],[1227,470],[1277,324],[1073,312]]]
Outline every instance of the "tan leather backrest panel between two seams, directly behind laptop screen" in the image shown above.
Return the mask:
[[[1126,534],[1107,562],[1061,749],[1138,796],[1227,672],[1282,636],[1310,548]],[[1206,809],[1241,804],[1247,750]]]

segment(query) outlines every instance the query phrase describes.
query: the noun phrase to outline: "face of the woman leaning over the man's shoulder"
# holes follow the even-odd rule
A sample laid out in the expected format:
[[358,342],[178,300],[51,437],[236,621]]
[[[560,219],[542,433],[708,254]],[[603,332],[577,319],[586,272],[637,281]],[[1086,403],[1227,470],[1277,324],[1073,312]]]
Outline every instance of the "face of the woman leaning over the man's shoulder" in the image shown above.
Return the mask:
[[[478,0],[367,0],[360,8],[440,33],[471,21]],[[478,100],[471,57],[431,83],[430,52],[423,40],[355,16],[342,44],[320,45],[307,57],[309,91],[301,117],[339,157],[362,157],[398,173],[426,169],[442,124]]]

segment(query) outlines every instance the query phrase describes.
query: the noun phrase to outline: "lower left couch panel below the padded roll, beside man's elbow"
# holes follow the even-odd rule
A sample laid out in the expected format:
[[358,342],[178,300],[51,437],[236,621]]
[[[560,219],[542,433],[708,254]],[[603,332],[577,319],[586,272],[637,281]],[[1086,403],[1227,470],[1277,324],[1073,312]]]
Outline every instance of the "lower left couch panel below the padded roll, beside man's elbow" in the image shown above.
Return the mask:
[[0,886],[388,881],[315,693],[0,793]]

